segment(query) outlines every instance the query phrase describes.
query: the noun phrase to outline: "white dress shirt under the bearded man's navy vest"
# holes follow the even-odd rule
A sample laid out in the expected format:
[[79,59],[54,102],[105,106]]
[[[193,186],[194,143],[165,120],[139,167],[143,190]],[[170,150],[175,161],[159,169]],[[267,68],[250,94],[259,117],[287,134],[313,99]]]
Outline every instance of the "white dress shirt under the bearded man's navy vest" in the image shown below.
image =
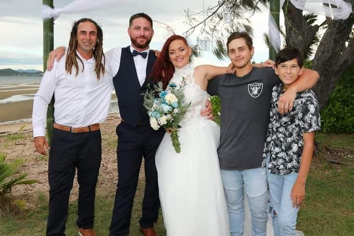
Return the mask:
[[[133,46],[130,46],[130,52],[133,52],[133,50],[134,50]],[[149,53],[149,51],[150,51],[150,49],[148,48],[147,50],[145,50],[143,52]],[[107,64],[110,67],[110,70],[111,70],[113,76],[117,75],[117,72],[119,70],[119,65],[120,65],[121,48],[117,47],[117,48],[111,49],[105,53],[105,56],[106,56]],[[146,76],[147,76],[146,67],[148,65],[148,56],[146,58],[143,58],[141,55],[137,55],[137,56],[133,57],[133,59],[134,59],[134,64],[135,64],[136,73],[137,73],[137,76],[139,79],[139,83],[140,83],[140,86],[142,86],[144,84]]]

